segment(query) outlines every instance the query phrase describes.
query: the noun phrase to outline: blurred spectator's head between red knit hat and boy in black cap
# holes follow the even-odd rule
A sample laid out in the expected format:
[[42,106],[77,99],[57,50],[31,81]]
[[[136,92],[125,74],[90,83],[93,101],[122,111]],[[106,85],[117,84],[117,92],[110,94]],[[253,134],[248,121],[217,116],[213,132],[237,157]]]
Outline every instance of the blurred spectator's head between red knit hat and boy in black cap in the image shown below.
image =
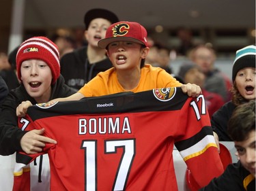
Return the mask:
[[51,40],[58,46],[60,58],[64,54],[74,50],[74,39],[69,35],[59,35],[58,33],[55,33],[51,37]]

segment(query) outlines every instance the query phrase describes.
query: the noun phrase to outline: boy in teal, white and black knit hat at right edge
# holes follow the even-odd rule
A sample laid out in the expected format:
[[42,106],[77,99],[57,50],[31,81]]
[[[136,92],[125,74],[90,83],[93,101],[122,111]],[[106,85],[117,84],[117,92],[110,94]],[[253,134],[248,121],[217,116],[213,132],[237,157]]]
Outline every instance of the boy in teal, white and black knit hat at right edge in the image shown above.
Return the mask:
[[227,122],[233,109],[255,99],[255,56],[256,46],[254,45],[246,46],[236,52],[232,69],[232,100],[216,111],[211,119],[217,143],[218,141],[232,141],[227,133]]

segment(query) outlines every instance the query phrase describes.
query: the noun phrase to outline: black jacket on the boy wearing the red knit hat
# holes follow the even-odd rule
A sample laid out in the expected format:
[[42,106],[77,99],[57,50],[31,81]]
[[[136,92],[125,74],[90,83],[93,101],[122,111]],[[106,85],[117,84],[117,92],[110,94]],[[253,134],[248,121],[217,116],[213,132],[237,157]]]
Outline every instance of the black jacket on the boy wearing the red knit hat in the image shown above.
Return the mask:
[[[55,84],[52,85],[51,99],[59,97],[68,97],[76,92],[64,84],[63,77],[60,76]],[[22,101],[31,101],[34,105],[35,100],[27,94],[25,87],[21,84],[18,88],[11,90],[3,101],[0,116],[0,154],[10,155],[22,150],[20,139],[25,135],[25,131],[18,128],[18,117],[16,116],[16,107]]]

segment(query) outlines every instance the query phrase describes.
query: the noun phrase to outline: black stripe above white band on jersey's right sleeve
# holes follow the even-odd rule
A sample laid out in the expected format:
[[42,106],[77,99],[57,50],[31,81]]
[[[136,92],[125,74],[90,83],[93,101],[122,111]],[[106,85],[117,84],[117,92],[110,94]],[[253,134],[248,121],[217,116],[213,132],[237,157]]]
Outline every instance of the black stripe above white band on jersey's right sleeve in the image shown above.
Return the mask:
[[213,135],[212,126],[204,126],[201,131],[193,137],[176,142],[175,147],[179,151],[186,150],[188,147],[191,147],[201,141],[201,139],[203,139],[206,135]]

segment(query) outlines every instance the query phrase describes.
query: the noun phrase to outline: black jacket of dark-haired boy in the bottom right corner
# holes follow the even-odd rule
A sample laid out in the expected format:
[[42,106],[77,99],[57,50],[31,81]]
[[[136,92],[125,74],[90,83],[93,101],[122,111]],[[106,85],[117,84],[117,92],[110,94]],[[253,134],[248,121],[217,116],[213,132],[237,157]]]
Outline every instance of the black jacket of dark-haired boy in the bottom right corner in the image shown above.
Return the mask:
[[[246,181],[244,181],[246,180]],[[245,184],[244,184],[245,183]],[[255,178],[249,171],[242,167],[240,160],[229,164],[224,173],[212,179],[208,186],[200,191],[255,191]]]

